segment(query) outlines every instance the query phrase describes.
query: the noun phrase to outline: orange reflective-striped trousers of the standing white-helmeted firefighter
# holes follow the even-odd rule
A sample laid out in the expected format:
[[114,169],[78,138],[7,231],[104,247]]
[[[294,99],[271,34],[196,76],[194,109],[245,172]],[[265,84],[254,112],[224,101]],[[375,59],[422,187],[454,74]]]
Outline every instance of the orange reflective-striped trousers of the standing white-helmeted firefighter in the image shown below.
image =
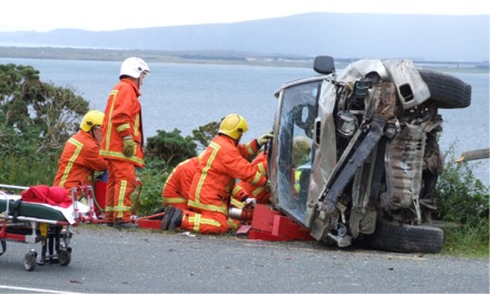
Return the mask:
[[131,194],[136,189],[135,165],[107,160],[109,178],[106,193],[106,223],[131,220]]

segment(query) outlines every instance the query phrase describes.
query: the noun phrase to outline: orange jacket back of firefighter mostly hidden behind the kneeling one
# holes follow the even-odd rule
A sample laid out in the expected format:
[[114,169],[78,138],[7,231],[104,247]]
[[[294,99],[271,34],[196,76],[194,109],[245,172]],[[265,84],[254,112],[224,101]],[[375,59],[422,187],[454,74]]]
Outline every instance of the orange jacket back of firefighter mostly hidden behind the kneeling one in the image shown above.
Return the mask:
[[198,163],[198,158],[193,157],[182,161],[171,170],[161,192],[165,206],[174,205],[180,209],[187,208],[190,184],[193,184]]

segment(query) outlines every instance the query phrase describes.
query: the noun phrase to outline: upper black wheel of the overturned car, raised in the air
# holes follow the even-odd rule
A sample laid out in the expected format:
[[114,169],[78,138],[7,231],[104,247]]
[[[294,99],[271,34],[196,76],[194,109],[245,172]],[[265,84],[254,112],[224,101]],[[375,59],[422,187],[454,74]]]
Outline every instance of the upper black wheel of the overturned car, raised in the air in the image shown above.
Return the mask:
[[419,69],[431,92],[430,101],[438,108],[465,108],[471,104],[471,85],[457,77]]

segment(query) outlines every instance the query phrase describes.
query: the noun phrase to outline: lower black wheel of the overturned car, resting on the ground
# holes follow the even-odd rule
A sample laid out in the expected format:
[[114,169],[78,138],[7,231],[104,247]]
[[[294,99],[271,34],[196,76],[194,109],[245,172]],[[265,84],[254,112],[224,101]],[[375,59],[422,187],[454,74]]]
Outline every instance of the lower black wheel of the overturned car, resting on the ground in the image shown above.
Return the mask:
[[403,253],[438,253],[442,248],[444,233],[439,227],[400,225],[378,222],[372,235],[364,235],[369,247]]

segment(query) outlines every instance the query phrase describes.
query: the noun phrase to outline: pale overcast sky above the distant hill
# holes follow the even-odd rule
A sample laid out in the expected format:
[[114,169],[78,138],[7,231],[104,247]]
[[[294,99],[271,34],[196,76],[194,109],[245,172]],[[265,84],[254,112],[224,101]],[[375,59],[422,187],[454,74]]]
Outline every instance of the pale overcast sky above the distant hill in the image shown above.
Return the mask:
[[7,0],[0,31],[238,22],[306,12],[490,14],[488,0]]

